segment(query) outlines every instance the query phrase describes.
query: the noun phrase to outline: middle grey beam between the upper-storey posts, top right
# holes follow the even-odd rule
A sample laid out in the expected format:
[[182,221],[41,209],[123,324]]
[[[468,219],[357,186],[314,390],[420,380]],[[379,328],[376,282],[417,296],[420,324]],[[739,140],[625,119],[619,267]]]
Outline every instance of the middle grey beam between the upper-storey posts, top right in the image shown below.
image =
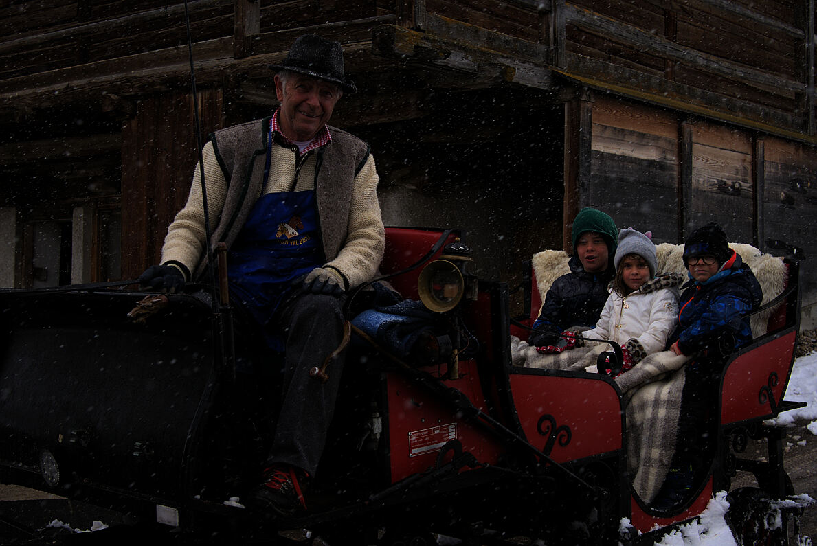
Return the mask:
[[603,36],[625,42],[641,51],[666,55],[670,59],[694,65],[717,76],[749,82],[773,90],[783,89],[801,93],[806,89],[805,84],[801,82],[792,82],[792,80],[780,78],[773,73],[754,69],[745,64],[734,63],[715,55],[694,51],[690,47],[681,46],[656,36],[654,33],[645,32],[629,24],[623,24],[572,4],[565,5],[565,20],[567,24],[575,24],[581,29],[601,33]]

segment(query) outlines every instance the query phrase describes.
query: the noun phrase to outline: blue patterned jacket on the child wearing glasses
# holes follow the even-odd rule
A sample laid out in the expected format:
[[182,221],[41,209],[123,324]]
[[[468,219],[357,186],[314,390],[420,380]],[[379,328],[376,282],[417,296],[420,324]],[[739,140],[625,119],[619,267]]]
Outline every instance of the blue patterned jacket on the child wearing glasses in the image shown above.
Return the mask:
[[748,313],[763,300],[761,286],[752,269],[732,251],[718,273],[705,282],[687,282],[678,300],[676,339],[681,353],[692,354],[712,343],[713,335],[734,335],[734,348],[752,341]]

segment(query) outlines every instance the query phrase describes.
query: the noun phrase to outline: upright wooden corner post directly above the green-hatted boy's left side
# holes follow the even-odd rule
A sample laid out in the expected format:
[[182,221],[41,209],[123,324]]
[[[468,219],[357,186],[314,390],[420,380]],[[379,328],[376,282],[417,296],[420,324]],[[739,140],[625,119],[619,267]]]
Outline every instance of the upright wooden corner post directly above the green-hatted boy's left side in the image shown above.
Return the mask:
[[592,101],[587,92],[565,103],[565,206],[562,247],[573,252],[570,231],[573,220],[587,202],[591,170]]

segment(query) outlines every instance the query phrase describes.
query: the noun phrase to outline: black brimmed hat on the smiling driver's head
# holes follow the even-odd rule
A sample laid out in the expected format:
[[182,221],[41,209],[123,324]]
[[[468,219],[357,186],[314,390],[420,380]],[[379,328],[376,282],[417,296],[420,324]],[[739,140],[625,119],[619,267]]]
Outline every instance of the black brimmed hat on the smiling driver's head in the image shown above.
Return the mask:
[[333,42],[317,34],[304,34],[292,44],[283,63],[269,66],[275,72],[290,70],[337,83],[346,93],[357,91],[355,84],[346,78],[341,42]]

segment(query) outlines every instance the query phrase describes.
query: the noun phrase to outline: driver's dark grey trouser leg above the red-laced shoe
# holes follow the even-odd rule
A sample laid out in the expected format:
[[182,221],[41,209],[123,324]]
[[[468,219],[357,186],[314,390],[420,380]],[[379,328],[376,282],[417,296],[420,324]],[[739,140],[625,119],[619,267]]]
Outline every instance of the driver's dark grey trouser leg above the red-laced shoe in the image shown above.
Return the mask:
[[315,474],[335,409],[345,354],[327,369],[321,383],[309,375],[341,344],[342,300],[332,295],[302,294],[278,313],[286,340],[283,400],[268,464],[292,464]]

